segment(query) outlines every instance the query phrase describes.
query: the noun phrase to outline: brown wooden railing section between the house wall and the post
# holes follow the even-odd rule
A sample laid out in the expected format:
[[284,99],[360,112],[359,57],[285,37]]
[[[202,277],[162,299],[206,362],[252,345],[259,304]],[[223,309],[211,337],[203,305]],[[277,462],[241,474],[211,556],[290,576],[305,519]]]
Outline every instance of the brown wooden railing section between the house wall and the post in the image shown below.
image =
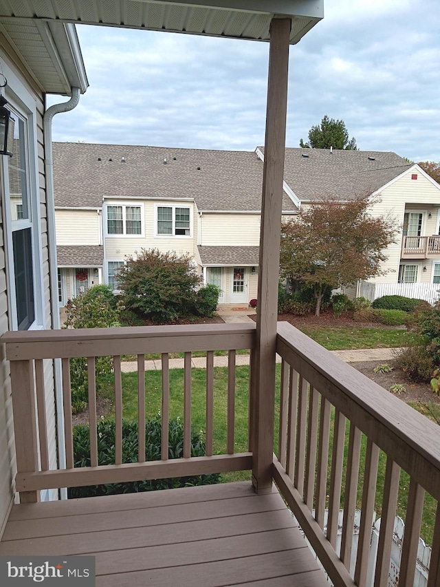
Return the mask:
[[[234,453],[236,350],[255,347],[255,326],[213,324],[145,328],[96,328],[8,332],[3,336],[10,361],[17,447],[17,491],[21,502],[36,501],[41,489],[80,487],[176,476],[193,476],[252,468],[252,453]],[[213,455],[214,351],[228,351],[228,438],[226,453]],[[206,456],[191,457],[191,353],[206,351]],[[170,417],[169,353],[184,353],[184,458],[168,459]],[[144,355],[162,354],[162,460],[145,462]],[[122,463],[121,356],[137,356],[138,462]],[[115,390],[115,464],[100,465],[96,416],[95,361],[113,357]],[[70,360],[87,357],[91,467],[74,467]],[[44,363],[61,359],[66,469],[50,470],[46,423]],[[142,434],[144,431],[144,434]],[[249,434],[250,436],[250,434]]]

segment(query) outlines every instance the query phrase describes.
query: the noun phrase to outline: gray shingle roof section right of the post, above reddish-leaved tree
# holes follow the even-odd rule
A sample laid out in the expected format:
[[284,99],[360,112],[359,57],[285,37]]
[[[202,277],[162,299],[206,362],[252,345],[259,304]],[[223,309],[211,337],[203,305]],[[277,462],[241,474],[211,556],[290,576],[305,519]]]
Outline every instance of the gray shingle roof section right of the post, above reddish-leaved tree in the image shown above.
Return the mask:
[[373,193],[410,167],[404,158],[386,151],[288,148],[284,176],[300,200],[350,200]]

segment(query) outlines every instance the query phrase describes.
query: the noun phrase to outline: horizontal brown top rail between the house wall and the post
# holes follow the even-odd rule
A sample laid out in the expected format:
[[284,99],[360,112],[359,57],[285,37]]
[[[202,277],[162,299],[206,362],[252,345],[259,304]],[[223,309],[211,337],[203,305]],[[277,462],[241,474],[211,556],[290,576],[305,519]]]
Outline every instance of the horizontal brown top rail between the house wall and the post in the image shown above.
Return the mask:
[[9,361],[252,348],[254,324],[195,324],[6,332]]

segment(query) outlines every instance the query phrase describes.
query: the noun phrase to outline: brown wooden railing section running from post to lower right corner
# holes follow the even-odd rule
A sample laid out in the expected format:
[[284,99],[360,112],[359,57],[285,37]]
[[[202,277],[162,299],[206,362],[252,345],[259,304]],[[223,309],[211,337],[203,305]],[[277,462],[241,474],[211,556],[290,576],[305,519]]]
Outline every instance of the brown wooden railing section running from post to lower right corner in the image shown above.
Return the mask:
[[[432,552],[440,551],[440,427],[291,325],[278,323],[277,340],[283,362],[276,484],[333,584],[365,586],[381,451],[386,471],[374,586],[388,585],[402,470],[410,482],[399,586],[412,587],[425,491],[437,500]],[[357,501],[362,516],[351,575]],[[340,508],[344,517],[337,553]],[[428,587],[439,584],[436,557]]]

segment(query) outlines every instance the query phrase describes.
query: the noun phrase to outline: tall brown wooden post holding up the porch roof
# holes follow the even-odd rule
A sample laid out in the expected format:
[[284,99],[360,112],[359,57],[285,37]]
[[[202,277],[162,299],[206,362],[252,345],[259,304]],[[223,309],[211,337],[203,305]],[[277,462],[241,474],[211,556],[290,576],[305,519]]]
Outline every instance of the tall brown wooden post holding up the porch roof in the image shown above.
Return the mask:
[[291,25],[291,19],[274,18],[270,31],[256,321],[257,347],[255,373],[252,374],[256,389],[253,398],[256,422],[252,442],[252,484],[257,493],[272,490],[276,320]]

